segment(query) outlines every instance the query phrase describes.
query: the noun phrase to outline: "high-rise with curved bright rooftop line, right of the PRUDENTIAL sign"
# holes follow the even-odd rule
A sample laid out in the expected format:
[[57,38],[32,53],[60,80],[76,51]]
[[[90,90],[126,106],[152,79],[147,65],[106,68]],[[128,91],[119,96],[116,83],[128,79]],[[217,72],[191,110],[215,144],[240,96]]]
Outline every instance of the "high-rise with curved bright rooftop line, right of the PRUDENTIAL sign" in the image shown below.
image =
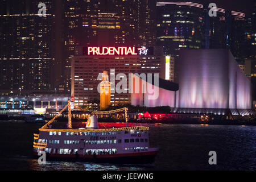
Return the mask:
[[164,55],[179,56],[183,48],[201,48],[203,5],[188,2],[158,2],[156,44]]

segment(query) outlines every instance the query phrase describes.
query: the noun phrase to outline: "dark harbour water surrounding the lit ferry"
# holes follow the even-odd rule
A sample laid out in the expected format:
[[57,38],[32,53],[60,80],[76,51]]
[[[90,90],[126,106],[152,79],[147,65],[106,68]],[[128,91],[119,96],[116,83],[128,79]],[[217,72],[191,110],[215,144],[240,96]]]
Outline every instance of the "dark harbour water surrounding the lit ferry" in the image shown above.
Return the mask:
[[[39,165],[32,143],[42,124],[0,122],[0,170],[256,170],[256,126],[137,125],[150,126],[150,145],[160,148],[153,164]],[[217,165],[209,165],[209,151],[217,152]]]

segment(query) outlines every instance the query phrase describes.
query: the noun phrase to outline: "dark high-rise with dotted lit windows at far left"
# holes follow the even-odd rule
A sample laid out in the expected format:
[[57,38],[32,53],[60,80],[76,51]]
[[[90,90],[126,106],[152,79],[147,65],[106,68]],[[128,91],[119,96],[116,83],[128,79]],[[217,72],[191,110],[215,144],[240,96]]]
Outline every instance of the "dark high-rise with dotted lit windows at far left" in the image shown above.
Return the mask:
[[38,16],[39,1],[1,1],[0,87],[6,90],[49,90],[54,77],[55,14],[51,1],[46,17]]

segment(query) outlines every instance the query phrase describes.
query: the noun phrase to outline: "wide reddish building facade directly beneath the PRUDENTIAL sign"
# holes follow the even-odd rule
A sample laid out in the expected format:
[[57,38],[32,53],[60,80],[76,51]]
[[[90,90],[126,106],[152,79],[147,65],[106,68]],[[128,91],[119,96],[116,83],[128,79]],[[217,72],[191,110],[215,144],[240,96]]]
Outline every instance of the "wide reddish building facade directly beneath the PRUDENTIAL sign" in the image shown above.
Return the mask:
[[[114,47],[110,48],[113,49]],[[146,47],[148,49],[147,55],[139,55],[139,49],[141,48],[129,48],[134,50],[134,55],[131,55],[131,53],[125,55],[125,52],[120,52],[119,55],[88,55],[88,47],[86,47],[84,48],[86,51],[84,55],[72,57],[71,96],[75,98],[75,105],[88,106],[93,105],[95,100],[100,100],[100,93],[97,88],[103,71],[108,71],[109,73],[111,82],[110,104],[112,105],[130,103],[129,73],[160,74],[161,63],[165,61],[165,56],[162,55],[161,49]],[[120,81],[126,82],[122,86],[119,85],[119,88],[125,90],[124,92],[126,93],[117,89]]]

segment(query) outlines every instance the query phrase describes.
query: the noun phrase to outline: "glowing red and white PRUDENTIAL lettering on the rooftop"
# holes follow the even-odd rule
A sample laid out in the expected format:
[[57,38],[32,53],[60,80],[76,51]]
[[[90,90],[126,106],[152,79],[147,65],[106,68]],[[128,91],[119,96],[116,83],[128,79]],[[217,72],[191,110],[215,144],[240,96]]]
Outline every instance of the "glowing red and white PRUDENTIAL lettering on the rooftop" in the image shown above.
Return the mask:
[[135,47],[88,47],[87,55],[137,55]]

